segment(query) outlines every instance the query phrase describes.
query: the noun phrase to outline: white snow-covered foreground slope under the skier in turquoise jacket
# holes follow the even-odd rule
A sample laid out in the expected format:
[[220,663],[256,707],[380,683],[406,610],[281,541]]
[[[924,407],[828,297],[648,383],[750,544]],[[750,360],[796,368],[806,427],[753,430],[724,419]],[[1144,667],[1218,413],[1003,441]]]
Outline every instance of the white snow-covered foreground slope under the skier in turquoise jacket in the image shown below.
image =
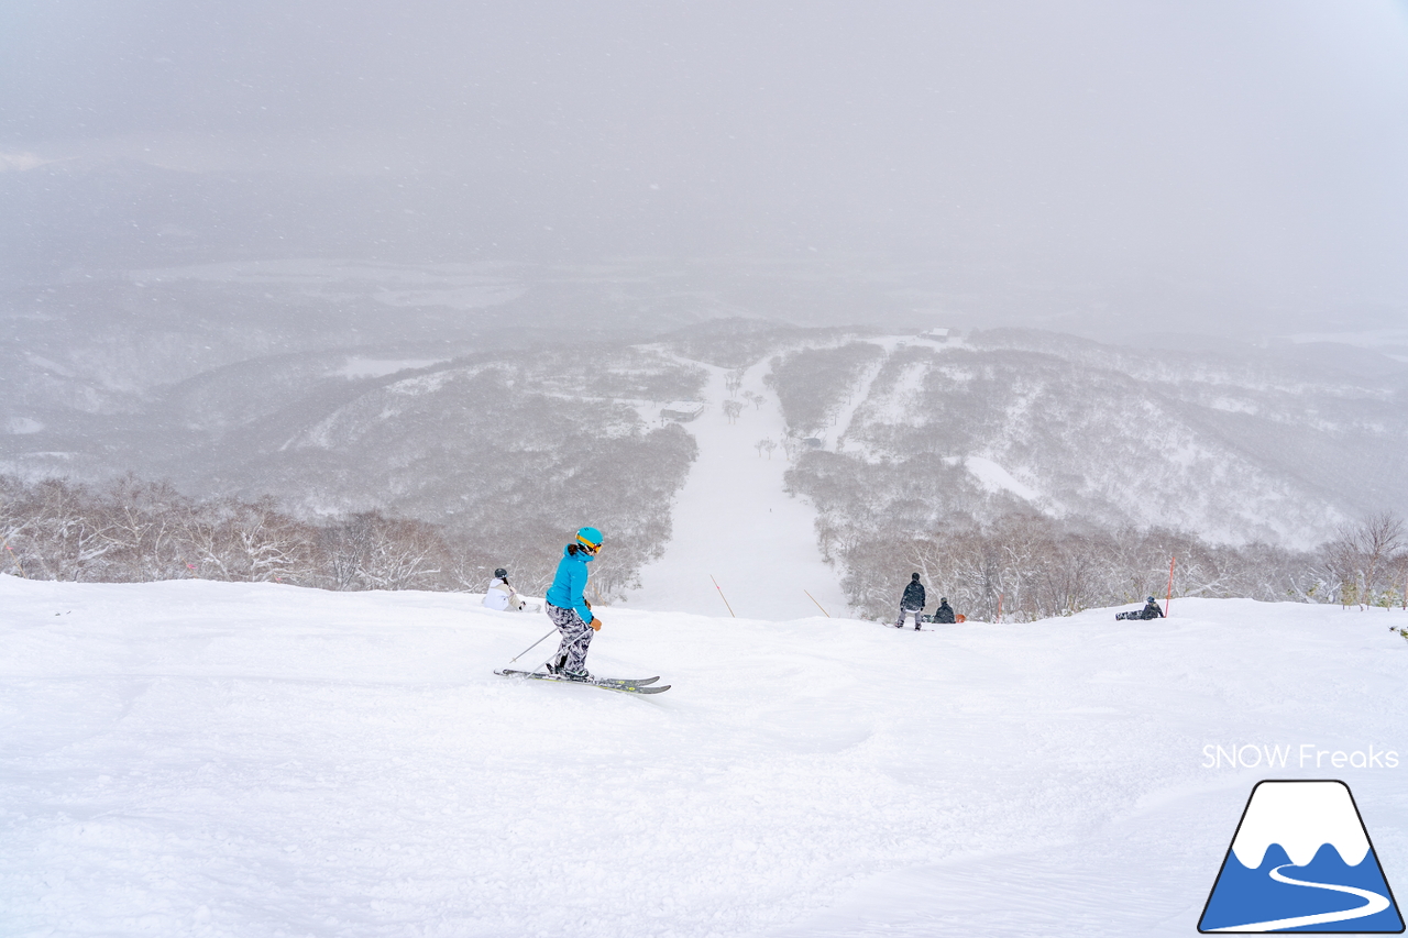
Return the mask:
[[603,610],[591,666],[673,684],[639,699],[496,677],[548,623],[465,594],[0,576],[0,610],[7,935],[1188,935],[1253,783],[1331,775],[1408,882],[1408,768],[1204,768],[1408,753],[1402,611]]

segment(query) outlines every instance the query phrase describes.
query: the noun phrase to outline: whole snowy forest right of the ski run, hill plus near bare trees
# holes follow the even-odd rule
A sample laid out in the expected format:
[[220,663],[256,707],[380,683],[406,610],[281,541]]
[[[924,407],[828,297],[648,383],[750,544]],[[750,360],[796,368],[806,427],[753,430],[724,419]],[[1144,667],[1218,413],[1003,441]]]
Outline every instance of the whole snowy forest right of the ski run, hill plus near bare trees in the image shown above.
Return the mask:
[[1069,615],[1163,597],[1174,559],[1174,596],[1402,603],[1402,524],[1363,499],[1402,504],[1402,379],[1312,377],[1288,352],[857,337],[770,382],[790,490],[867,615],[911,572],[980,620]]

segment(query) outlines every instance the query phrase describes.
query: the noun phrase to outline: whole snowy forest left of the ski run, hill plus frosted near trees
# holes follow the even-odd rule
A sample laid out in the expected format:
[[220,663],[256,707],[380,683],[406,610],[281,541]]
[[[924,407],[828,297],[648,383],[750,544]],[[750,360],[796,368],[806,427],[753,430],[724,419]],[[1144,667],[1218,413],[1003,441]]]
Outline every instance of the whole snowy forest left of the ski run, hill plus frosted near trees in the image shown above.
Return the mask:
[[669,542],[669,499],[694,459],[659,401],[701,377],[660,352],[593,358],[480,354],[362,377],[345,355],[279,356],[180,382],[146,404],[152,424],[180,427],[149,431],[162,445],[72,454],[62,475],[10,463],[8,572],[483,589],[507,566],[534,592],[590,520],[612,532],[593,586],[617,596]]

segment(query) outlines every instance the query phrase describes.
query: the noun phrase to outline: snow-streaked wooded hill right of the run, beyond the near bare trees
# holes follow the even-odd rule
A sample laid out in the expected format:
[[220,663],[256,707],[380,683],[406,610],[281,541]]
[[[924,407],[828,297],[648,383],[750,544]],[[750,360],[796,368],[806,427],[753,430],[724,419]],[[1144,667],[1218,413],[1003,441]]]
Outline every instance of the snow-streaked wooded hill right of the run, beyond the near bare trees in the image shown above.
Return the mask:
[[[1018,330],[852,348],[870,349],[869,373],[838,370],[842,349],[779,363],[784,406],[807,407],[794,430],[829,441],[803,456],[796,487],[842,527],[924,531],[1024,507],[1309,546],[1347,518],[1408,506],[1408,368],[1384,356],[1315,373],[1302,349],[1157,355]],[[845,396],[860,400],[842,424]],[[863,508],[826,494],[838,459],[853,463]]]

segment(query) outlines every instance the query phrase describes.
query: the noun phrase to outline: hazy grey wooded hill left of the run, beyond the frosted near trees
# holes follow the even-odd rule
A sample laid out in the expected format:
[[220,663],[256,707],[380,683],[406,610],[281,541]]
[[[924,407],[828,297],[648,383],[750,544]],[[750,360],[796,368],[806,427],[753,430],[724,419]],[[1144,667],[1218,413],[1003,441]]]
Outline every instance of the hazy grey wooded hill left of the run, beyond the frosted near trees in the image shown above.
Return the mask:
[[[286,399],[237,407],[249,369],[284,376]],[[545,584],[570,534],[594,524],[612,548],[594,568],[603,594],[634,583],[670,539],[670,499],[696,444],[660,424],[659,403],[694,396],[704,376],[632,346],[482,354],[375,380],[301,358],[231,372],[203,380],[203,406],[186,411],[193,425],[151,454],[120,449],[111,466],[169,477],[173,497],[193,504],[262,504],[290,524],[384,515],[429,525],[459,558],[436,569],[480,570],[465,573],[466,583],[510,566],[525,589]],[[100,466],[70,462],[63,476],[31,469],[23,477],[106,484]],[[28,535],[17,537],[23,545]],[[45,544],[41,554],[68,551],[63,539]],[[158,576],[125,563],[101,569],[84,561],[55,575]]]

